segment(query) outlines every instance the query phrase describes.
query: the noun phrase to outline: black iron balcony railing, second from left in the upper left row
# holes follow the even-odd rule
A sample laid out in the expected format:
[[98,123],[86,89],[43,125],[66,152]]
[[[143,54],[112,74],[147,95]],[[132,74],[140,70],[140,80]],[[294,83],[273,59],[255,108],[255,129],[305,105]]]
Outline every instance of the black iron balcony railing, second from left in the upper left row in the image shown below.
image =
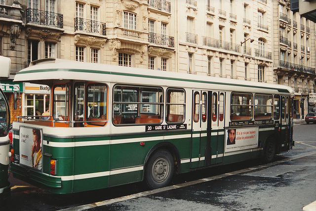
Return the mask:
[[75,18],[75,31],[85,31],[106,35],[106,25],[105,23],[98,21]]

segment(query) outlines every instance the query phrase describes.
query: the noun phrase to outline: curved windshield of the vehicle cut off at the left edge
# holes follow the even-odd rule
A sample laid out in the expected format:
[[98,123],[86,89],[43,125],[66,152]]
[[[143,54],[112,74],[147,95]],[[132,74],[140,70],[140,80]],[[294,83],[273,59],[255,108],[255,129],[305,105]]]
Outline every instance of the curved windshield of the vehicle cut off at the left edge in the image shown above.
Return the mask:
[[2,92],[0,91],[0,136],[6,136],[9,131],[10,124],[10,111],[7,100]]

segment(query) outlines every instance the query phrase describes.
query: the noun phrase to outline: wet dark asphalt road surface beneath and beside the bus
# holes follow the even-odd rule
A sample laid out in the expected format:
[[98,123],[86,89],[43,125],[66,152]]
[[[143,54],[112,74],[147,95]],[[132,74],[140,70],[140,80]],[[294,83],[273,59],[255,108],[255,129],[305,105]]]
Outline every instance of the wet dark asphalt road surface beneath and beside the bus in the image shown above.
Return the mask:
[[154,191],[141,182],[56,195],[13,181],[4,210],[301,211],[316,200],[316,125],[294,125],[294,140],[293,150],[273,164],[247,161],[183,174]]

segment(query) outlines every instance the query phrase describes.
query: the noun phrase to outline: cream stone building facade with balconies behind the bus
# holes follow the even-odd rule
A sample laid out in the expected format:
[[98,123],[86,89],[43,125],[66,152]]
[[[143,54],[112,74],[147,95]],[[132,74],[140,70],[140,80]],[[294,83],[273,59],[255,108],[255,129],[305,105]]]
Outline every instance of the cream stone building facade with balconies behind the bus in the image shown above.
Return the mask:
[[[0,0],[0,55],[11,59],[11,82],[33,60],[60,58],[280,83],[295,88],[297,98],[307,105],[306,94],[315,92],[315,23],[293,14],[288,3]],[[311,68],[289,68],[292,63],[302,65],[302,59],[303,66]],[[43,112],[48,89],[23,85],[20,115]]]

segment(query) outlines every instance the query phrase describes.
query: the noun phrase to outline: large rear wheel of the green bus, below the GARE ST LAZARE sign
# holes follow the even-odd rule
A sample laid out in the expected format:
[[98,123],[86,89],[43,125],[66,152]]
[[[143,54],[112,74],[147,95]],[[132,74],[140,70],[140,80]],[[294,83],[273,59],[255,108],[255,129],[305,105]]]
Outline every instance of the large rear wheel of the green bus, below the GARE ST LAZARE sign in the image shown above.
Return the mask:
[[154,152],[146,165],[145,181],[152,189],[167,186],[173,177],[174,161],[171,153],[166,150]]

